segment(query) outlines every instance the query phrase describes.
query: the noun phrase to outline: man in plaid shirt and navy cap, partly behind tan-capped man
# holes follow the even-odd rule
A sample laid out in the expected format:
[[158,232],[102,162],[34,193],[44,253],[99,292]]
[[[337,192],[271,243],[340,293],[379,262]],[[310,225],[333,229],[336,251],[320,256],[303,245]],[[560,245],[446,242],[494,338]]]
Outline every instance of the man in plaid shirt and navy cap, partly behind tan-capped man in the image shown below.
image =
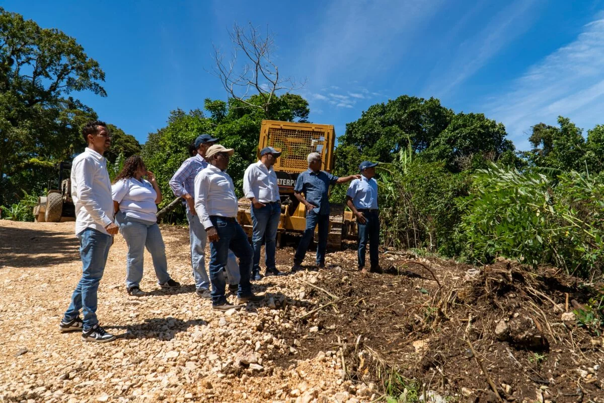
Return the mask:
[[[218,141],[217,138],[209,134],[202,134],[194,141],[194,147],[197,153],[182,163],[181,167],[170,179],[170,188],[175,196],[184,199],[187,209],[187,220],[189,223],[189,239],[191,243],[191,267],[193,268],[193,278],[195,279],[196,294],[202,298],[211,298],[210,279],[205,271],[205,243],[207,234],[204,226],[199,221],[195,213],[195,176],[208,166],[205,160],[205,153],[208,148]],[[229,279],[230,291],[237,290],[239,283],[239,265],[234,254],[229,253],[228,265],[226,265],[226,274]]]

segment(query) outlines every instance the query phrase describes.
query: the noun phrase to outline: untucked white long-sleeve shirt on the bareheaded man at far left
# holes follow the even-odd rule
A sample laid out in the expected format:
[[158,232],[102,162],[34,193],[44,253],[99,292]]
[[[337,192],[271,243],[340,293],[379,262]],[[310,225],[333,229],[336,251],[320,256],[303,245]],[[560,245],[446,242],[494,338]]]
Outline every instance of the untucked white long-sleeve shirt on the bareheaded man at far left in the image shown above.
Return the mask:
[[111,180],[107,160],[88,147],[71,165],[71,198],[76,205],[76,235],[86,228],[109,234],[113,222]]

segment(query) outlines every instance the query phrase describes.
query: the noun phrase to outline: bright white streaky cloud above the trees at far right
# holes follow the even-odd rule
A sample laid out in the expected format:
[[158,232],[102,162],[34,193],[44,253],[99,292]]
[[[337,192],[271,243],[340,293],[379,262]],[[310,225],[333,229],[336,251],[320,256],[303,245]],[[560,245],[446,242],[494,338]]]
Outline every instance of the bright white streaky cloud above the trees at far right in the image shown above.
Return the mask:
[[589,129],[604,123],[604,13],[570,44],[545,57],[503,94],[487,102],[489,117],[506,125],[516,146],[526,149],[530,127],[556,124],[558,115]]

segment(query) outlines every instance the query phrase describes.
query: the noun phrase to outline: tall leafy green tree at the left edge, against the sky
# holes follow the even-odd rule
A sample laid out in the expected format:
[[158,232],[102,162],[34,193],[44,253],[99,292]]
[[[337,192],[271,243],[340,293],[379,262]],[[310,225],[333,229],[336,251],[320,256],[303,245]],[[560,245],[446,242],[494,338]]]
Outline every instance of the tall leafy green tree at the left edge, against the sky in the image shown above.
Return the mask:
[[96,115],[69,94],[105,96],[103,80],[74,38],[0,7],[0,204],[43,187],[40,167],[77,151],[80,124]]

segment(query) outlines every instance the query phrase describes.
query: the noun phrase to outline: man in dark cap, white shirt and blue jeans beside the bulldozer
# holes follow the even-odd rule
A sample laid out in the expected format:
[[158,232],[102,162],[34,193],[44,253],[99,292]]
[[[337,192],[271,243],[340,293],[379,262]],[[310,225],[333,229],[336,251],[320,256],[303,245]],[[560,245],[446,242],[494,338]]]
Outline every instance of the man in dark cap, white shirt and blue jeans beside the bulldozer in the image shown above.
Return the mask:
[[277,228],[281,219],[281,199],[279,198],[279,185],[277,174],[272,166],[281,155],[273,147],[260,150],[260,161],[251,164],[243,175],[243,193],[251,200],[252,222],[252,248],[254,248],[254,265],[252,266],[252,280],[260,280],[260,248],[265,240],[265,276],[279,276],[282,274],[275,265],[275,249],[277,245]]

